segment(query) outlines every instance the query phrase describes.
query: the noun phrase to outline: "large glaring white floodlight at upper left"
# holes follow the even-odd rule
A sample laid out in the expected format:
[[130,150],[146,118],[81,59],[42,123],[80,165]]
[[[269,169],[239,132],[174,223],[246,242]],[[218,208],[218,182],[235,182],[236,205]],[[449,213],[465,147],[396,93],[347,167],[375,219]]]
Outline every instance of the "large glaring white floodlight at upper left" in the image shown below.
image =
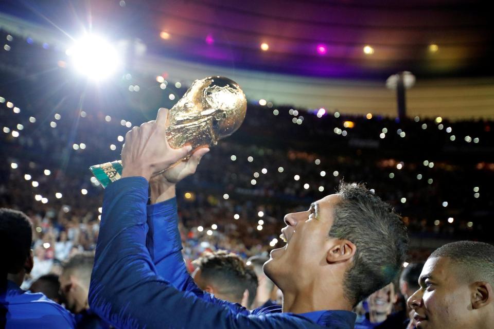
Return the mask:
[[103,80],[121,65],[120,56],[108,41],[100,36],[86,35],[66,51],[74,68],[92,80]]

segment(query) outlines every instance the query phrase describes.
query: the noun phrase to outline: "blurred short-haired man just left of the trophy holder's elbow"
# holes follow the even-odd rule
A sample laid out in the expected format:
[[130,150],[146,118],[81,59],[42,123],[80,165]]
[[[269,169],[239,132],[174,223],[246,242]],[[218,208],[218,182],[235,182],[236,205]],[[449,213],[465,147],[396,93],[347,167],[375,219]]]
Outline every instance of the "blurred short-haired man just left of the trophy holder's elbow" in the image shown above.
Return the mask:
[[67,309],[75,314],[78,329],[109,327],[91,311],[87,303],[93,265],[94,254],[91,252],[76,254],[62,264],[60,290]]

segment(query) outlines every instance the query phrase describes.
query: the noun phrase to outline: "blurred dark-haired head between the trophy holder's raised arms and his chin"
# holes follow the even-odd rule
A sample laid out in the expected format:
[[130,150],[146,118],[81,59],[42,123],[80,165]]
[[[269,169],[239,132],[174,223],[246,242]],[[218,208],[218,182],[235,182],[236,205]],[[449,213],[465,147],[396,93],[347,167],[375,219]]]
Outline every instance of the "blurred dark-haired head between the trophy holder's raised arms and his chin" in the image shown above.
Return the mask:
[[217,251],[196,261],[193,279],[216,298],[249,307],[256,297],[257,277],[250,266],[234,253]]

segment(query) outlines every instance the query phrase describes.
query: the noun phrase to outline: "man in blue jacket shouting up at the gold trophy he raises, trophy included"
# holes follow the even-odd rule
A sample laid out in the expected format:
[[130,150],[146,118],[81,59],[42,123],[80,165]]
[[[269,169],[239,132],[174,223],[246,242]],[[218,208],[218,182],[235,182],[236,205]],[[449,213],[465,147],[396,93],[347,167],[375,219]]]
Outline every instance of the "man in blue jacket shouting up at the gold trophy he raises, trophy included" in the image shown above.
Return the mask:
[[[307,211],[285,216],[281,236],[287,245],[273,250],[264,264],[284,293],[282,308],[248,310],[216,299],[188,275],[175,184],[195,172],[207,147],[233,133],[245,115],[238,85],[207,79],[184,96],[190,99],[185,108],[200,108],[199,115],[189,111],[189,119],[171,123],[170,117],[180,117],[170,116],[180,100],[170,111],[161,109],[156,121],[127,133],[121,179],[112,174],[104,195],[91,308],[118,328],[353,328],[351,309],[391,282],[408,245],[399,216],[360,185],[342,184],[339,193]],[[197,97],[190,97],[191,90]],[[213,106],[204,109],[205,104]],[[173,136],[185,138],[172,145]]]

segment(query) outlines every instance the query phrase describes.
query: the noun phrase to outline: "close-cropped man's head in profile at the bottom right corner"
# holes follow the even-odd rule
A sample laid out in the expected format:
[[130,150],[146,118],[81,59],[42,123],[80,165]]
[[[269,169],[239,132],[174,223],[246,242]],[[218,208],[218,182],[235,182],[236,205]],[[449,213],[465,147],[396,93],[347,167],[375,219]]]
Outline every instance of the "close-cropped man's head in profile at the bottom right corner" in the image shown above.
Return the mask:
[[487,329],[494,323],[494,246],[473,241],[436,249],[409,298],[420,329]]

